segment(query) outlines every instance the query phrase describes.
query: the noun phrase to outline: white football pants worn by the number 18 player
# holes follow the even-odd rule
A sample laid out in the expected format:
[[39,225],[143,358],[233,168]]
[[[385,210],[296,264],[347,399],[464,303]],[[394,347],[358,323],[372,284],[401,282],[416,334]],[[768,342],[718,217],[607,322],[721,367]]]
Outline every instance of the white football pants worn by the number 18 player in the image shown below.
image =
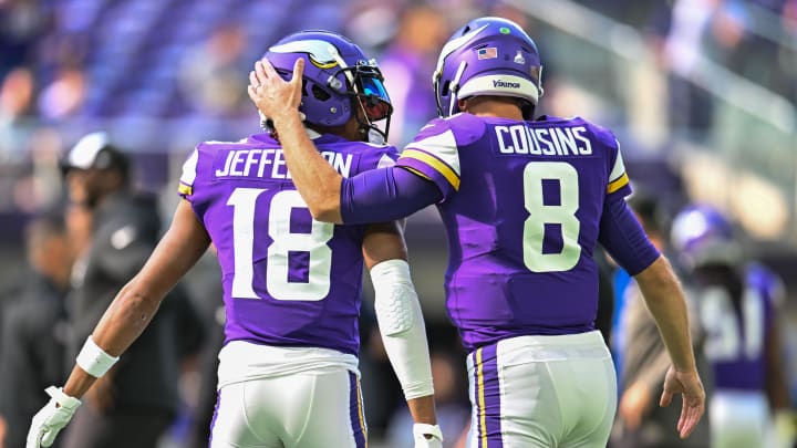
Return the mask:
[[211,448],[365,448],[353,355],[234,341],[219,360]]

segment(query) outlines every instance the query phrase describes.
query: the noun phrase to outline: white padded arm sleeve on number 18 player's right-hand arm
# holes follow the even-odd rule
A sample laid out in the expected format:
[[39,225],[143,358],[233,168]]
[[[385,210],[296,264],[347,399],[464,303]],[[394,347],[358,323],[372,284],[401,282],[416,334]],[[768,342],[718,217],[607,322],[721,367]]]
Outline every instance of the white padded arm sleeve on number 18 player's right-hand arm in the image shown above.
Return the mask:
[[410,265],[404,260],[383,261],[371,269],[371,281],[382,343],[404,397],[434,394],[426,326]]

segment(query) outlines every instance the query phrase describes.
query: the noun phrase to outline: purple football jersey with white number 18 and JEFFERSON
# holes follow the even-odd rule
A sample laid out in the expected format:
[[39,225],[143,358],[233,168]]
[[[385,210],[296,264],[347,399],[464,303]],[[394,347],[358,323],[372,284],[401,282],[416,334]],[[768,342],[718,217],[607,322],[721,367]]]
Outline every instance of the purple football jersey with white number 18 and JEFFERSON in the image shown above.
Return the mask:
[[[321,155],[343,177],[392,165],[395,148],[323,135]],[[226,341],[358,354],[363,226],[312,219],[267,134],[206,142],[186,160],[180,195],[221,265]]]

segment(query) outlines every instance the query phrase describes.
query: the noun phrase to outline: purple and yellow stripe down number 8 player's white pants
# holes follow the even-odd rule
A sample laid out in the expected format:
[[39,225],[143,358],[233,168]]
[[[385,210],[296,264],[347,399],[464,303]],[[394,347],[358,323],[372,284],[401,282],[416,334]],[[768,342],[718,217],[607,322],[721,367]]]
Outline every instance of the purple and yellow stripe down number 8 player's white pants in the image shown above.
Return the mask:
[[476,448],[503,448],[498,345],[487,345],[472,353],[474,366],[474,410]]

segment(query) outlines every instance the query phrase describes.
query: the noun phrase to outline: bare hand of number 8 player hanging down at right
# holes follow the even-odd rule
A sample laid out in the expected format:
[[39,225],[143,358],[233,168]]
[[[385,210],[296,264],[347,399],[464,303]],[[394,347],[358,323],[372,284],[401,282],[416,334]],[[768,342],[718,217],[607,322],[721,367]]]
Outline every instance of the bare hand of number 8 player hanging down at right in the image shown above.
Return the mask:
[[675,394],[681,394],[682,398],[681,417],[676,428],[681,438],[685,439],[692,434],[705,411],[705,390],[697,371],[681,372],[670,366],[664,377],[664,392],[660,405],[669,406]]

